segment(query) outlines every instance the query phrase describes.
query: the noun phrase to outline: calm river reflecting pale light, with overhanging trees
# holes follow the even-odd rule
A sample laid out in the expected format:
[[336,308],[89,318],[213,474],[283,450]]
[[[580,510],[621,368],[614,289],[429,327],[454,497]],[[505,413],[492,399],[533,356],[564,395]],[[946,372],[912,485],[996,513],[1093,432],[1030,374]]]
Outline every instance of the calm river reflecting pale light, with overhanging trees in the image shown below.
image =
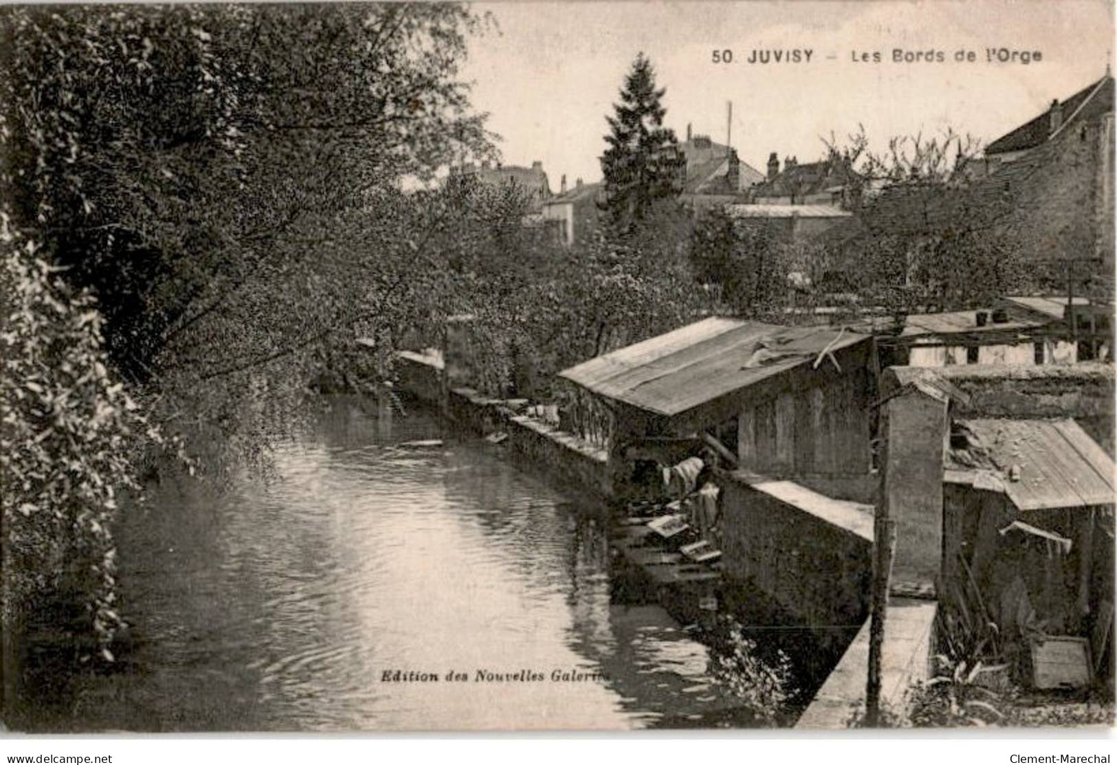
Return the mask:
[[[433,439],[445,444],[413,443]],[[338,399],[313,436],[276,451],[271,478],[160,487],[120,532],[135,646],[84,683],[67,727],[732,718],[707,649],[659,606],[611,597],[600,513],[500,449],[455,440],[421,411],[389,425]]]

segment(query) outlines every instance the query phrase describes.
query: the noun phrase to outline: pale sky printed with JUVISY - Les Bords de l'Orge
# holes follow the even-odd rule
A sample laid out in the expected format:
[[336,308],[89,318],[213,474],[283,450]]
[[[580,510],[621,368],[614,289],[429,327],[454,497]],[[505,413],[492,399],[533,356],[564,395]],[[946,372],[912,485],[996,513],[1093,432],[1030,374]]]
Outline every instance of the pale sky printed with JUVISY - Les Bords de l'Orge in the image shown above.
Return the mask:
[[[983,143],[1099,79],[1114,51],[1109,2],[665,2],[566,0],[475,3],[499,31],[474,39],[465,76],[490,114],[505,164],[542,161],[561,175],[600,180],[598,157],[637,52],[667,89],[665,122],[682,140],[732,145],[764,172],[770,152],[818,160],[822,138],[863,125],[875,149],[890,136],[951,126]],[[892,61],[892,50],[941,51],[945,61]],[[755,49],[800,50],[799,64],[748,64]],[[812,50],[810,63],[803,61]],[[1041,60],[989,63],[986,49],[1040,51]],[[733,63],[715,64],[713,51]],[[958,50],[975,61],[956,61]],[[853,61],[879,51],[881,63]]]

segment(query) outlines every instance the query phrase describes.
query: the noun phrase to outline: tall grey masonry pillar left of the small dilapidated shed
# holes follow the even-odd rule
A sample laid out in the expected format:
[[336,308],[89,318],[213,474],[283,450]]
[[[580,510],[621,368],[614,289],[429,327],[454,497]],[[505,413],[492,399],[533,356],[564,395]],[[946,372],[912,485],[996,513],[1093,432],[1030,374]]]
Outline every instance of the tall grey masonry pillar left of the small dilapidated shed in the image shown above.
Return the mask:
[[892,587],[935,585],[943,557],[946,394],[908,385],[882,405],[881,497],[896,523]]

